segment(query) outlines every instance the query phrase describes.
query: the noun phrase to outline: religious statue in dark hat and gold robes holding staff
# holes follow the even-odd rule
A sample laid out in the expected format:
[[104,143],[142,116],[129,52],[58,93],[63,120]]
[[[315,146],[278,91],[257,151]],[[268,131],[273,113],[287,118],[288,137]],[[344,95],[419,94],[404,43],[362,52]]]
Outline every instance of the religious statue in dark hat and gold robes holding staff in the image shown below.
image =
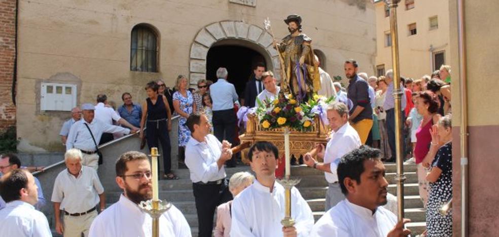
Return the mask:
[[274,39],[274,47],[279,52],[283,70],[281,90],[305,102],[320,89],[320,77],[312,39],[302,33],[301,21],[299,15],[288,16],[284,22],[288,24],[290,34],[280,42]]

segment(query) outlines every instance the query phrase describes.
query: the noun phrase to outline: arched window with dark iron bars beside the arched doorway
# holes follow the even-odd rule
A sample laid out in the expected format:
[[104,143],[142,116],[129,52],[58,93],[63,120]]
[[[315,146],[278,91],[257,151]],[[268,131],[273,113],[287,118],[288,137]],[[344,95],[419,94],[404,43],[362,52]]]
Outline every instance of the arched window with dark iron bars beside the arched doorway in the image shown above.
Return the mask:
[[132,29],[130,70],[158,72],[158,37],[147,25],[136,25]]

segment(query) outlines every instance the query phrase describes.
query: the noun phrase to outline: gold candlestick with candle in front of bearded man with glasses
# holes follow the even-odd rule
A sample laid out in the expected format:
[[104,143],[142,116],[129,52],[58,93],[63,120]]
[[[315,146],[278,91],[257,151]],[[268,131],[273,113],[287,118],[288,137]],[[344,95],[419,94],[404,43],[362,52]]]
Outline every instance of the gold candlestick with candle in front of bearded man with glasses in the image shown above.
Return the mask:
[[170,209],[171,204],[159,200],[159,188],[158,188],[158,148],[151,147],[151,160],[152,160],[152,173],[153,177],[151,179],[153,185],[153,199],[148,201],[142,201],[138,207],[149,214],[153,218],[152,225],[152,236],[159,237],[159,217],[163,215],[168,209]]

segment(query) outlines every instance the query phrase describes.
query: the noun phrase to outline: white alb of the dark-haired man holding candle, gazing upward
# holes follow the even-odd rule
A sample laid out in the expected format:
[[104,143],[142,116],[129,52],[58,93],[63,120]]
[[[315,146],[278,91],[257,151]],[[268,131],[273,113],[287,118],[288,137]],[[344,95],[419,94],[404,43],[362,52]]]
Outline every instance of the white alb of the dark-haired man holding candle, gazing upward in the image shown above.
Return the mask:
[[[232,202],[232,237],[279,237],[282,236],[284,219],[284,187],[274,182],[274,188],[263,186],[257,180]],[[308,236],[313,226],[312,210],[297,188],[291,189],[291,216],[296,221],[298,236]]]

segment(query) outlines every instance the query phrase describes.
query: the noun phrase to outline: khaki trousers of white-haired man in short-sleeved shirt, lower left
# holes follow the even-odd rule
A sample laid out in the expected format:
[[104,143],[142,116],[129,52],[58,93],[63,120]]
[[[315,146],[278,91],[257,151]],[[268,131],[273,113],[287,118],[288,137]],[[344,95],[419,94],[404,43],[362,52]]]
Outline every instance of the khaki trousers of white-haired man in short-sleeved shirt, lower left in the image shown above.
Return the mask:
[[87,237],[95,217],[97,217],[95,210],[83,216],[64,215],[64,237],[81,237],[82,233]]

